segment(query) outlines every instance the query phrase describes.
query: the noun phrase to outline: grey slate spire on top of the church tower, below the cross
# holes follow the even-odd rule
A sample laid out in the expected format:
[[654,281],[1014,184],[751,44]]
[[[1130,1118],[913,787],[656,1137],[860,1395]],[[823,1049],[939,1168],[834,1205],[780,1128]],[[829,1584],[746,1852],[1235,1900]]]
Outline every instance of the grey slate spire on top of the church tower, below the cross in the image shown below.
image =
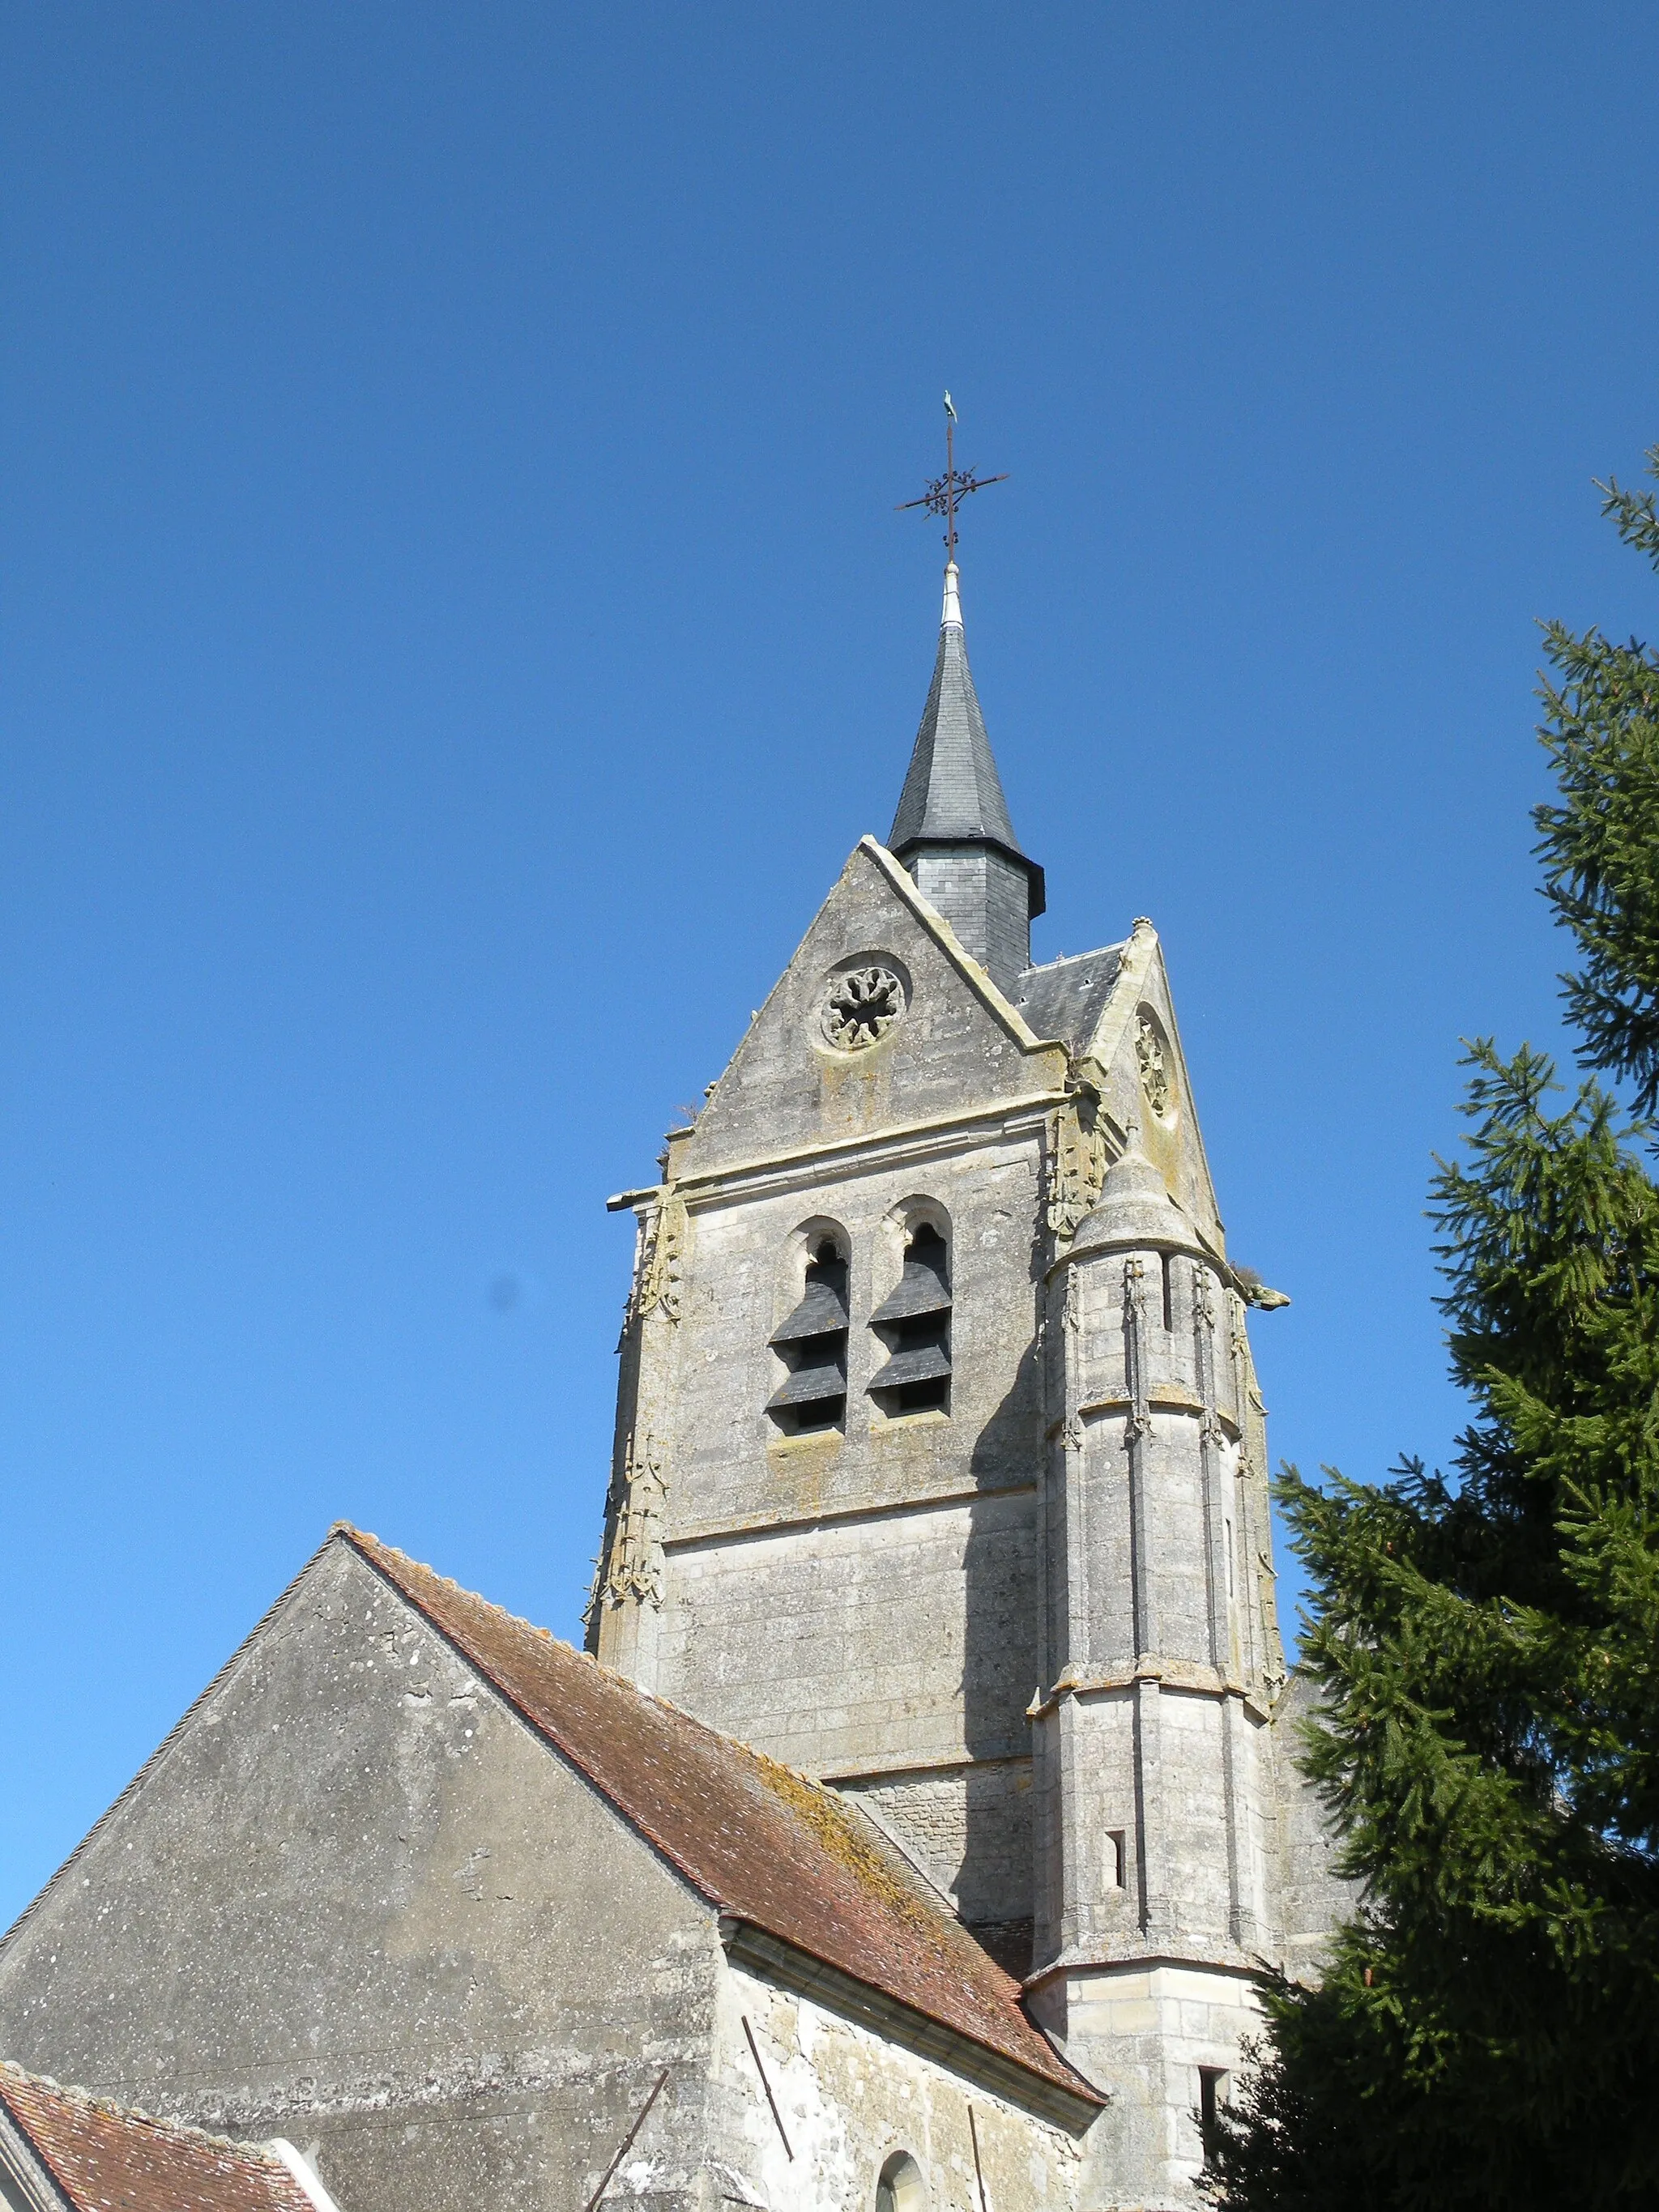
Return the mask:
[[962,947],[1006,989],[1031,967],[1031,922],[1042,914],[1044,885],[1009,821],[969,670],[958,586],[951,562],[933,684],[887,847]]

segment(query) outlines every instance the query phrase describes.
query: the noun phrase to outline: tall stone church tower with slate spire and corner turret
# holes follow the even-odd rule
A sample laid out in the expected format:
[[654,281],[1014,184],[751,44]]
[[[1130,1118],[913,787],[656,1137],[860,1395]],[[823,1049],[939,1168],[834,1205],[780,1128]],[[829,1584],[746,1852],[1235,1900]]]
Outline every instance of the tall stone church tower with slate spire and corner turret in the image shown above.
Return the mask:
[[1031,962],[956,560],[849,856],[637,1217],[588,1644],[852,1794],[1192,2203],[1321,1931],[1245,1307],[1157,933]]

